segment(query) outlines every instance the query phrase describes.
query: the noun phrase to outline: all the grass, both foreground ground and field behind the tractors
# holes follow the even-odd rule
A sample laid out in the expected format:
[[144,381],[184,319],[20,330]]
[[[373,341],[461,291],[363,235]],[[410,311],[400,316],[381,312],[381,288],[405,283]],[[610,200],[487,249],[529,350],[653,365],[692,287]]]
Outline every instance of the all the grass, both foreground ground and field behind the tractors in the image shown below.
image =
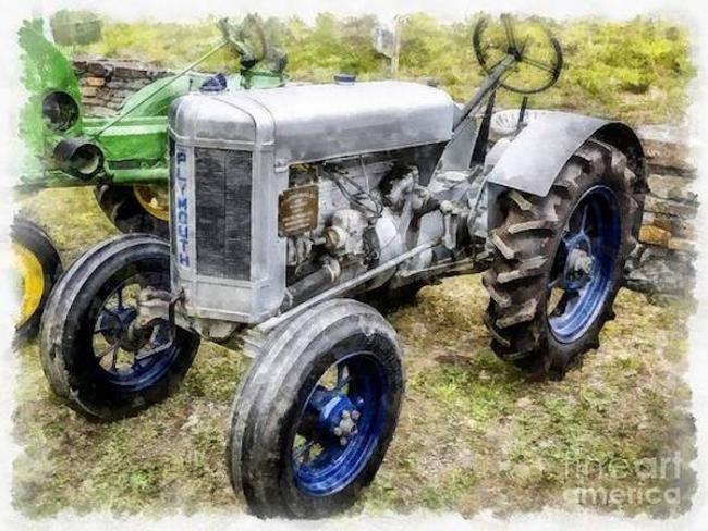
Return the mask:
[[[404,34],[402,76],[438,77],[456,98],[479,82],[469,50],[473,21],[443,25],[416,15]],[[350,70],[382,77],[371,54],[370,17],[320,16],[268,21],[291,58],[294,78],[324,81]],[[553,30],[564,45],[567,70],[561,83],[534,99],[537,107],[577,109],[632,122],[681,116],[685,86],[694,74],[685,29],[667,21],[572,21]],[[137,57],[174,67],[218,40],[213,21],[192,25],[108,22],[105,39],[90,48],[106,55]],[[225,57],[205,65],[233,69]],[[502,95],[502,104],[517,103]],[[45,190],[23,198],[28,215],[57,242],[65,263],[114,229],[95,206],[91,192]],[[682,300],[650,305],[622,291],[615,321],[582,370],[562,382],[527,383],[489,349],[481,316],[487,295],[478,276],[427,287],[417,304],[391,316],[405,345],[407,390],[402,416],[383,467],[354,513],[418,508],[473,515],[540,510],[544,506],[600,511],[678,515],[696,489],[688,462],[695,456]],[[223,464],[233,394],[247,370],[239,353],[203,344],[180,391],[138,417],[112,424],[84,420],[60,404],[41,373],[36,344],[17,351],[15,437],[24,447],[13,478],[15,507],[30,516],[80,513],[176,510],[242,511]],[[675,477],[622,478],[601,473],[612,464],[672,456]],[[588,464],[590,473],[585,473]],[[584,468],[585,467],[585,468]],[[569,490],[681,489],[678,504],[624,499],[579,503]]]

